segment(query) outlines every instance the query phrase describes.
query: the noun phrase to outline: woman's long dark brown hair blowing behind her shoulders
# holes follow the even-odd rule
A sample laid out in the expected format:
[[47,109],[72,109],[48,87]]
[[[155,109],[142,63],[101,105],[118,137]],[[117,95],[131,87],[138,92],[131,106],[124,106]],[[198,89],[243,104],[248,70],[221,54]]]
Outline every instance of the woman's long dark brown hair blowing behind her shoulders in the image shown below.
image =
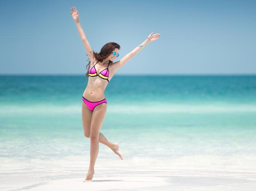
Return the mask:
[[[112,54],[112,51],[115,49],[115,48],[118,48],[120,49],[120,45],[115,43],[115,42],[108,42],[107,44],[105,44],[101,49],[100,49],[100,52],[99,53],[96,53],[95,51],[92,51],[92,54],[94,56],[94,58],[100,62],[103,62],[103,60],[105,58],[108,58],[108,56],[110,54]],[[86,54],[87,55],[87,54]],[[88,55],[87,55],[88,56]],[[89,58],[88,58],[89,59]],[[87,60],[88,60],[87,59]],[[113,62],[111,60],[109,60],[109,65],[112,64]],[[86,69],[87,69],[87,73],[85,74],[86,77],[89,77],[89,69],[90,69],[90,65],[91,65],[91,60],[89,61],[89,64],[86,65]]]

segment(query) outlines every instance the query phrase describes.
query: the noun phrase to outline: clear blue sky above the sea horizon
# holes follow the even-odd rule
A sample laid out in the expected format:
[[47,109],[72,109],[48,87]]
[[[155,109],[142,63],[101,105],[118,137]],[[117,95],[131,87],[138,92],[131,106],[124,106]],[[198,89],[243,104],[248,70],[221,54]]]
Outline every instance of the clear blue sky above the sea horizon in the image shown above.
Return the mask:
[[117,75],[256,74],[256,1],[1,1],[0,74],[85,75],[88,57],[70,8],[95,52],[108,42],[120,56],[160,38]]

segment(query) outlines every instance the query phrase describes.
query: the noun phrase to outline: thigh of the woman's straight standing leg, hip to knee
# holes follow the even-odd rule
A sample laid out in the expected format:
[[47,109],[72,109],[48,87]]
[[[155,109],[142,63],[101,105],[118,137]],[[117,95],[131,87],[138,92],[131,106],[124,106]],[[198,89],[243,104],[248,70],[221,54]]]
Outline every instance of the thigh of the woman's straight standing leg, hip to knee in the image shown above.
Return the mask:
[[102,103],[98,106],[95,106],[93,109],[93,115],[91,118],[91,133],[90,137],[97,137],[100,133],[100,128],[103,124],[105,115],[107,111],[107,103]]

